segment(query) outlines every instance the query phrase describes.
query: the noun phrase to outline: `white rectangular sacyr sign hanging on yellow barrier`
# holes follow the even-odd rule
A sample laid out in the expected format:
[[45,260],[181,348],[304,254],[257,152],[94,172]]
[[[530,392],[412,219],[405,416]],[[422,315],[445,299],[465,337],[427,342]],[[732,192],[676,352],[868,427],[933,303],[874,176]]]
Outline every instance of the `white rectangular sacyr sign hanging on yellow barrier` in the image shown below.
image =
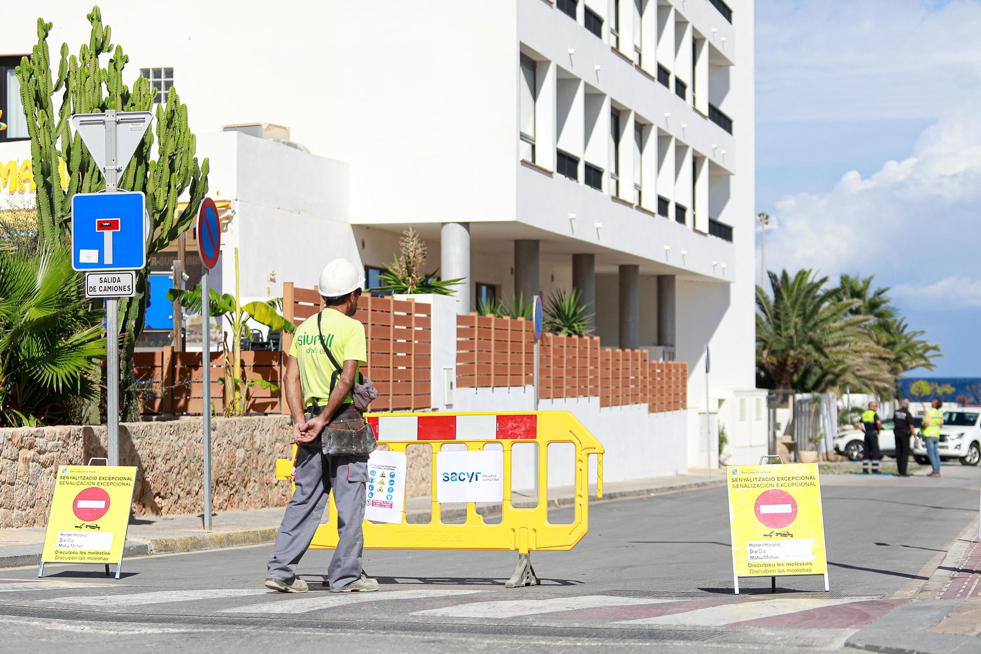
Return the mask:
[[503,502],[504,452],[438,452],[437,502]]

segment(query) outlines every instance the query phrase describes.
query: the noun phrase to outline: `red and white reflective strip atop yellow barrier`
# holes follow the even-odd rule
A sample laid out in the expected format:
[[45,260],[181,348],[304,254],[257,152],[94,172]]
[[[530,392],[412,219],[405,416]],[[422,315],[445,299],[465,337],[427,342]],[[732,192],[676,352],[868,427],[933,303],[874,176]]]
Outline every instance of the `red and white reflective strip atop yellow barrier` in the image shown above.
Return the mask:
[[499,415],[372,415],[368,422],[379,441],[493,441],[532,439],[539,434],[539,416]]

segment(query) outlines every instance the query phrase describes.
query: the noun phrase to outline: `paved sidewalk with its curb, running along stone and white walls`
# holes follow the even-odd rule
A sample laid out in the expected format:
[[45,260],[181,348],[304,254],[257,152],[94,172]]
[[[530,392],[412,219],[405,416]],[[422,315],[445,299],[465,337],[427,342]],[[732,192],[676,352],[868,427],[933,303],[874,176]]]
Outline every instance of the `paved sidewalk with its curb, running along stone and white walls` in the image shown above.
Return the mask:
[[[618,499],[664,495],[698,488],[721,486],[725,475],[721,470],[712,470],[709,480],[706,470],[692,469],[688,474],[650,477],[632,481],[615,481],[603,484],[603,499],[609,502]],[[590,489],[590,497],[595,503],[595,487]],[[534,494],[514,492],[516,507],[535,506]],[[550,488],[548,504],[551,508],[572,506],[572,487]],[[409,522],[428,522],[432,515],[432,501],[429,498],[413,498],[406,503]],[[500,505],[479,504],[478,513],[493,516],[500,513]],[[443,507],[444,521],[458,520],[466,516],[466,505]],[[130,518],[126,557],[175,552],[195,552],[240,545],[271,543],[283,518],[283,509],[261,509],[257,511],[228,511],[212,516],[212,531],[204,531],[203,515],[153,516]],[[22,529],[0,529],[0,569],[20,566],[36,566],[44,545],[43,527]]]

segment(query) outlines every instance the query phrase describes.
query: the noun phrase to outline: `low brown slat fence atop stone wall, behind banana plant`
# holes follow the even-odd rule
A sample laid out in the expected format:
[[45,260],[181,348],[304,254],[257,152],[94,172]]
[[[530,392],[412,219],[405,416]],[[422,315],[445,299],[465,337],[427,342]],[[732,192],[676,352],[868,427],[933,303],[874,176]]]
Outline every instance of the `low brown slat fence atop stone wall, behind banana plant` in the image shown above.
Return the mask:
[[[175,353],[168,346],[162,352],[138,352],[132,361],[139,385],[138,396],[144,415],[200,414],[204,403],[204,370],[199,352]],[[281,411],[282,379],[281,355],[278,352],[243,352],[241,365],[243,379],[262,379],[276,385],[276,389],[263,388],[258,384],[245,390],[246,413],[279,413]],[[215,410],[225,410],[225,355],[211,353],[211,401]]]

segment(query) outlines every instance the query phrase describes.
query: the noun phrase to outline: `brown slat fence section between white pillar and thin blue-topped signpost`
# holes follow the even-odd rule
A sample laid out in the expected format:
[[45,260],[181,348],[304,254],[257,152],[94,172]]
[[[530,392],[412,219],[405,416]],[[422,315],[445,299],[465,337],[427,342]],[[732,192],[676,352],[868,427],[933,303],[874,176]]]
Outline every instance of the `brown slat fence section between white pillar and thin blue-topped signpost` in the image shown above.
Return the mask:
[[530,386],[535,376],[535,333],[524,318],[457,316],[456,386]]

